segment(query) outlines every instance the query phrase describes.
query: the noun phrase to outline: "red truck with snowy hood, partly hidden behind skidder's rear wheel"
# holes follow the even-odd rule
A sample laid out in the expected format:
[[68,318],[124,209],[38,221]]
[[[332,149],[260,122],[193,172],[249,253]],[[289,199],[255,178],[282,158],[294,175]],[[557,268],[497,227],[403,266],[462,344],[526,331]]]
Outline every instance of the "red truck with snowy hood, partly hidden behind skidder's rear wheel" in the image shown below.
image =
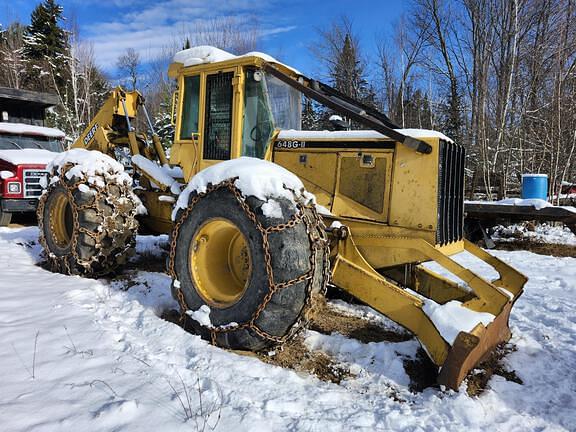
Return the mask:
[[0,226],[12,213],[36,211],[46,165],[63,150],[58,129],[0,122]]

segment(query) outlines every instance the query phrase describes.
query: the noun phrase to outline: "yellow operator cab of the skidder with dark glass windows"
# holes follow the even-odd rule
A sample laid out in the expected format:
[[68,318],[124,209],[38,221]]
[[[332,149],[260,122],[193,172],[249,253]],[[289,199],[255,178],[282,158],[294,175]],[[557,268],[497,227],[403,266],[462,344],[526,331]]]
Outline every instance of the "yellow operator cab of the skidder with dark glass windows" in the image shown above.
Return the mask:
[[[302,94],[262,70],[269,58],[248,54],[239,62],[238,57],[225,54],[231,67],[225,60],[190,66],[184,60],[170,67],[179,88],[173,101],[176,136],[171,163],[191,165],[190,174],[240,156],[265,159],[275,131],[301,129]],[[186,163],[181,157],[190,152],[179,149],[188,145],[195,151],[194,160]]]

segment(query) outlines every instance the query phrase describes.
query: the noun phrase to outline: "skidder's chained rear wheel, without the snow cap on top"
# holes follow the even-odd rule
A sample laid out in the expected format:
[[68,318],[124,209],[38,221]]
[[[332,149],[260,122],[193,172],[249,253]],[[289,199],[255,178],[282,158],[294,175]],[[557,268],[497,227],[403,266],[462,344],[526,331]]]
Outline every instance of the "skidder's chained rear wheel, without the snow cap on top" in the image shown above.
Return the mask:
[[67,179],[72,167],[40,198],[40,244],[52,271],[87,277],[110,274],[133,254],[137,203],[128,185],[108,180],[98,187]]

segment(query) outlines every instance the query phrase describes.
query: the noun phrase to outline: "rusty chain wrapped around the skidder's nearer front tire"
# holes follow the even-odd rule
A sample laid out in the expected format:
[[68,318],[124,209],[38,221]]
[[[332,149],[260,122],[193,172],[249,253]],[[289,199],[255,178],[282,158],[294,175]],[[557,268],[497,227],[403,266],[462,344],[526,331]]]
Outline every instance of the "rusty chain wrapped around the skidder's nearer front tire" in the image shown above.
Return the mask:
[[[184,222],[184,220],[186,220],[186,218],[188,217],[190,212],[194,209],[194,206],[196,205],[196,203],[201,198],[205,197],[206,195],[208,195],[209,193],[211,193],[215,190],[224,189],[224,188],[229,189],[234,194],[234,197],[236,198],[236,200],[238,201],[238,203],[240,204],[240,206],[242,207],[242,209],[244,210],[244,212],[246,213],[246,215],[248,216],[250,221],[252,221],[254,226],[256,226],[256,228],[258,229],[258,231],[262,235],[262,244],[263,244],[263,248],[264,248],[264,260],[265,260],[266,273],[268,276],[268,289],[269,289],[269,291],[264,296],[264,300],[262,301],[262,303],[260,303],[260,305],[254,311],[254,314],[252,315],[250,320],[248,320],[247,322],[239,324],[239,325],[234,326],[234,327],[228,327],[228,326],[224,325],[224,326],[210,328],[209,329],[210,342],[213,345],[217,345],[216,336],[218,334],[227,333],[227,332],[234,332],[234,331],[244,330],[244,329],[250,329],[254,333],[256,333],[258,336],[260,336],[261,338],[263,338],[265,340],[269,340],[275,344],[282,344],[282,343],[286,342],[287,340],[291,339],[292,337],[294,337],[298,333],[298,331],[301,330],[302,328],[304,328],[308,323],[308,320],[310,318],[309,317],[309,311],[312,308],[312,298],[313,298],[313,295],[316,294],[312,291],[313,290],[312,279],[314,278],[314,274],[316,272],[318,254],[323,254],[323,256],[322,256],[323,271],[322,271],[322,276],[321,276],[322,281],[321,281],[319,293],[321,295],[324,295],[326,293],[327,284],[328,284],[328,280],[330,277],[330,261],[329,261],[329,253],[328,253],[329,243],[328,243],[328,238],[326,235],[326,229],[325,229],[325,226],[324,226],[322,219],[318,217],[318,213],[316,211],[315,205],[314,204],[303,205],[300,203],[296,204],[298,212],[294,216],[292,216],[288,222],[274,225],[274,226],[271,226],[268,228],[264,228],[262,226],[262,224],[256,218],[256,214],[252,211],[252,209],[248,206],[248,204],[246,204],[246,200],[245,200],[244,196],[242,195],[242,193],[240,192],[240,190],[234,185],[234,182],[236,181],[236,179],[237,178],[232,178],[232,179],[223,181],[221,183],[218,183],[216,185],[209,184],[208,188],[206,189],[205,192],[195,193],[192,196],[191,200],[188,203],[188,207],[184,210],[184,212],[180,216],[177,217],[177,221],[174,224],[174,228],[172,229],[168,273],[172,277],[173,280],[175,280],[175,281],[178,280],[176,270],[174,269],[175,258],[176,258],[176,242],[178,239],[178,233],[180,231],[180,227],[181,227],[182,223]],[[291,190],[291,192],[294,193],[294,191],[292,191],[292,190]],[[308,216],[306,210],[308,210],[310,213],[312,213],[312,216],[313,216],[312,219],[317,220],[318,224],[315,224],[314,221],[311,220],[311,218],[310,218],[310,216]],[[300,275],[294,279],[276,284],[274,282],[274,274],[273,274],[273,269],[272,269],[272,255],[270,253],[270,243],[268,241],[268,235],[271,233],[283,231],[283,230],[288,229],[288,228],[292,228],[292,227],[298,225],[299,223],[304,223],[304,225],[306,226],[306,233],[308,234],[308,240],[310,242],[310,248],[312,251],[312,253],[310,254],[310,270],[308,270],[306,273],[304,273],[304,274],[302,274],[302,275]],[[309,281],[307,288],[306,288],[307,289],[306,302],[302,308],[302,311],[299,315],[298,320],[291,326],[290,330],[284,336],[280,337],[280,336],[274,336],[274,335],[268,334],[264,330],[260,329],[256,325],[256,320],[258,319],[258,317],[260,316],[262,311],[266,308],[266,306],[268,305],[270,300],[272,300],[272,297],[274,296],[274,294],[278,290],[281,290],[281,289],[286,288],[288,286],[294,285],[294,284],[299,283],[299,282],[304,282],[304,281]],[[184,298],[184,293],[182,291],[182,288],[180,286],[177,286],[175,288],[176,288],[177,301],[178,301],[178,304],[180,306],[180,323],[181,323],[181,325],[183,325],[184,321],[185,321],[186,311],[190,310],[190,308],[186,304],[186,299]]]

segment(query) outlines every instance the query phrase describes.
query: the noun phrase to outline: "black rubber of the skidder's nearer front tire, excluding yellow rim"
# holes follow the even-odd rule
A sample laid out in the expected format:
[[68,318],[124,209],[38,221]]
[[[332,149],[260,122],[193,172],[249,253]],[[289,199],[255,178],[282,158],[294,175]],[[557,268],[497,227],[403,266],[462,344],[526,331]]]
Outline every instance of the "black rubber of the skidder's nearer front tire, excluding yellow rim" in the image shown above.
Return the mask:
[[[274,200],[282,209],[281,218],[265,216],[262,211],[265,202],[258,198],[243,200],[255,216],[255,223],[243,208],[239,191],[231,183],[223,182],[206,194],[192,194],[188,209],[177,215],[171,237],[175,240],[174,254],[169,264],[176,277],[172,293],[182,309],[197,311],[204,305],[210,307],[211,325],[201,325],[192,319],[187,319],[187,323],[192,331],[218,346],[259,351],[287,340],[306,325],[312,295],[325,290],[328,246],[321,219],[311,206],[297,207],[288,199]],[[310,277],[274,290],[268,278],[264,235],[258,225],[266,229],[285,224],[296,216],[307,218],[306,222],[299,220],[289,228],[267,235],[273,283],[276,286],[306,274]],[[201,228],[218,220],[231,223],[243,235],[251,263],[244,292],[235,303],[225,306],[215,305],[201,294],[190,255],[191,248],[197,247],[196,236]],[[185,304],[179,299],[180,293]]]

